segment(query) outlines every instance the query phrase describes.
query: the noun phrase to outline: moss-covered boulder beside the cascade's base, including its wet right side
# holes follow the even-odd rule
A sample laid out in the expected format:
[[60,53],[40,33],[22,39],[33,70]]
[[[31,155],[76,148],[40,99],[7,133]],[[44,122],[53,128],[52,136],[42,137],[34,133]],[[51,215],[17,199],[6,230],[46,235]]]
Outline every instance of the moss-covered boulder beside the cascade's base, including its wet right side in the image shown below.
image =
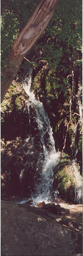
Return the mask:
[[[79,183],[79,188],[77,188],[77,183]],[[76,164],[76,167],[73,167],[73,163],[69,160],[67,154],[62,154],[60,165],[55,167],[54,184],[59,192],[59,196],[65,199],[66,202],[82,203],[80,166]],[[81,191],[81,195],[79,195],[79,191]]]

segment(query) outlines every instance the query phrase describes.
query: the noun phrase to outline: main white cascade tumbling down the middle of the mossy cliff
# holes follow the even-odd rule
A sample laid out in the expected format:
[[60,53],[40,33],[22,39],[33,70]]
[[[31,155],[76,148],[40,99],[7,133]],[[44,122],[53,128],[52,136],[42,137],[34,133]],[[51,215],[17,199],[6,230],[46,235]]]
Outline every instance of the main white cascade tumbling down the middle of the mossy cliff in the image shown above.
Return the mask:
[[[41,144],[43,147],[44,160],[42,163],[42,172],[41,172],[41,182],[35,187],[35,196],[32,195],[33,204],[37,204],[39,201],[44,201],[47,203],[51,200],[50,196],[50,187],[53,182],[53,168],[57,165],[59,161],[60,153],[55,151],[55,141],[53,138],[52,128],[50,126],[49,118],[44,110],[42,102],[35,99],[33,91],[31,91],[31,75],[32,68],[29,68],[29,74],[27,72],[25,80],[23,81],[23,88],[29,96],[28,111],[29,105],[32,103],[35,105],[37,123],[39,127]],[[30,115],[29,115],[30,123]],[[55,191],[55,196],[58,191]]]

